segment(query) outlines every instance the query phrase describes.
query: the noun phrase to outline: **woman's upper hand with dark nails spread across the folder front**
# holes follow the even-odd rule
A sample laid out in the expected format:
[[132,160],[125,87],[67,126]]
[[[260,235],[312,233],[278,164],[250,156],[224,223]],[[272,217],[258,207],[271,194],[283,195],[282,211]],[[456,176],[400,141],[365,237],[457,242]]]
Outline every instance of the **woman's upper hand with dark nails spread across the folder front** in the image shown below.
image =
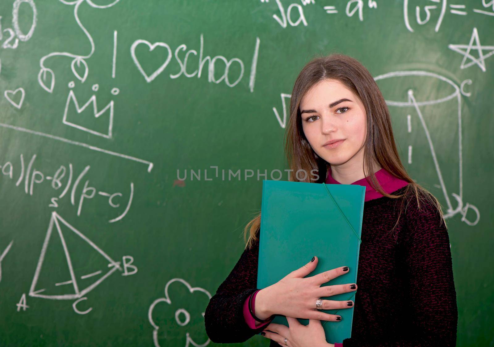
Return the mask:
[[[255,315],[267,319],[273,314],[301,319],[319,319],[340,321],[341,316],[325,313],[316,307],[317,299],[333,295],[353,292],[357,289],[355,283],[323,286],[322,284],[348,273],[347,266],[337,267],[307,277],[318,263],[318,258],[310,261],[301,268],[290,272],[277,283],[261,289],[255,297]],[[344,269],[346,268],[346,271]],[[352,287],[351,287],[352,286]],[[322,309],[351,308],[353,301],[323,300]]]

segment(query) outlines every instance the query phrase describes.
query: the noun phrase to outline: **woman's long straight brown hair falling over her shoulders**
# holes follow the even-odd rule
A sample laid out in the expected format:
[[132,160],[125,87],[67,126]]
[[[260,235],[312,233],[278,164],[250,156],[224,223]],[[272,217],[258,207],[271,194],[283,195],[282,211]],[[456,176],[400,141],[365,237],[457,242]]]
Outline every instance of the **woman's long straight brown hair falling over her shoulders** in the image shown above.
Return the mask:
[[[420,201],[429,201],[437,207],[441,220],[444,221],[441,204],[436,197],[428,192],[427,189],[414,182],[403,167],[398,151],[396,150],[389,110],[379,87],[377,87],[369,71],[357,59],[348,55],[333,53],[328,56],[314,58],[303,67],[295,80],[290,99],[290,116],[285,132],[285,153],[289,167],[292,170],[290,171],[289,180],[311,182],[308,174],[305,175],[304,179],[298,179],[295,174],[298,170],[304,170],[303,172],[305,173],[317,170],[320,177],[317,183],[323,183],[326,180],[330,164],[320,158],[307,141],[302,130],[302,119],[299,108],[300,102],[307,91],[326,79],[341,82],[357,95],[365,106],[367,134],[364,143],[363,169],[365,176],[369,176],[371,186],[383,196],[392,199],[401,198],[402,196],[414,196],[417,200],[418,208],[420,208]],[[375,175],[369,175],[369,173],[374,173],[373,168],[375,163],[379,164],[381,168],[384,168],[392,175],[409,182],[403,194],[390,195],[386,193],[375,178]],[[405,200],[407,199],[402,200],[400,213],[392,230],[398,224]],[[247,246],[249,248],[252,247],[252,243],[258,240],[257,233],[260,224],[261,214],[259,213],[245,226],[244,240],[246,240],[248,235],[246,248]]]

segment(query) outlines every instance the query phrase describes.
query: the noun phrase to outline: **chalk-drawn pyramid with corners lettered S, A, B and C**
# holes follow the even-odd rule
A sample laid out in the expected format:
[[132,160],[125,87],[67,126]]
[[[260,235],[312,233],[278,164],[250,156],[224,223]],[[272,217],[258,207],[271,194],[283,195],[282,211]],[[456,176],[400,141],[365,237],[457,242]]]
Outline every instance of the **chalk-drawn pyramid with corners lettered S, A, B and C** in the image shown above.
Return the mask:
[[[91,268],[97,271],[89,271]],[[114,261],[73,225],[52,212],[29,296],[79,299],[116,270],[122,271],[120,262]],[[64,281],[55,283],[61,278]]]

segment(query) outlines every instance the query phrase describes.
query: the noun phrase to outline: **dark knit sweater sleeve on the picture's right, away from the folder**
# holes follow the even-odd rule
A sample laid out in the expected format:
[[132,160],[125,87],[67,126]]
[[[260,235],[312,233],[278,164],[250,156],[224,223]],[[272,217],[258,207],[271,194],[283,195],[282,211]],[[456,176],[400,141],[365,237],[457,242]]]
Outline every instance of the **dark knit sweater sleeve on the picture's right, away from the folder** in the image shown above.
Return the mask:
[[435,206],[421,201],[418,210],[412,200],[405,214],[408,227],[399,236],[408,279],[403,290],[410,298],[409,335],[379,341],[349,338],[343,347],[456,345],[458,310],[448,229]]

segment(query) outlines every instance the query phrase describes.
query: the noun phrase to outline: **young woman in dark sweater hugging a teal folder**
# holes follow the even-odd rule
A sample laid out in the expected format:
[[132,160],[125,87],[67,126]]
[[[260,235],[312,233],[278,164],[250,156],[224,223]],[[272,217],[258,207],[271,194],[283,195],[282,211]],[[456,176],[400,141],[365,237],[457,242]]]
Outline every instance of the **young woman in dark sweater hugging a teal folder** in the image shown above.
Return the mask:
[[[345,274],[347,264],[304,278],[317,266],[315,255],[256,288],[259,214],[245,228],[244,253],[206,308],[209,339],[238,343],[261,333],[269,346],[455,346],[456,291],[441,205],[405,171],[369,71],[342,54],[310,61],[293,86],[287,135],[290,180],[315,169],[319,180],[307,174],[306,182],[366,186],[357,283],[320,287]],[[353,291],[355,303],[318,300]],[[338,324],[341,317],[321,309],[337,308],[355,311],[351,338],[333,345],[321,320]],[[275,314],[285,315],[289,327],[271,323]]]

